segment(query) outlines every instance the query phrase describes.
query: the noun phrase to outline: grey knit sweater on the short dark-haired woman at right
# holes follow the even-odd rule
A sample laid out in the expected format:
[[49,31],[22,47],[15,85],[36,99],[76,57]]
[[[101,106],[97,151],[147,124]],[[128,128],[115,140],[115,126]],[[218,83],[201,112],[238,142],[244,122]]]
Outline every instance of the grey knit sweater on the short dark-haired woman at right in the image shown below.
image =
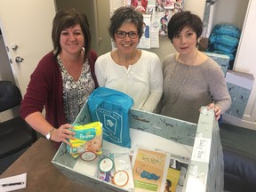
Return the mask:
[[[189,66],[181,64],[175,56],[176,54],[168,55],[163,62],[164,97],[161,114],[197,124],[199,108],[213,101],[224,113],[230,107],[231,99],[220,66],[212,58],[208,58],[189,70]],[[181,87],[187,73],[186,81]],[[178,97],[175,98],[177,93]]]

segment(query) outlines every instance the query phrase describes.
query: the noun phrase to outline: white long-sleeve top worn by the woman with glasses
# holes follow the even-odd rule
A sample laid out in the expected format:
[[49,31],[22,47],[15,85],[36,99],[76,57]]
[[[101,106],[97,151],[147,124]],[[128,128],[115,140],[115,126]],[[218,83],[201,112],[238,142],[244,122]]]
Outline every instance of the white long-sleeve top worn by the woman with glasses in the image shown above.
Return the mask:
[[95,74],[99,86],[132,97],[133,108],[152,112],[163,93],[162,64],[153,52],[142,50],[140,59],[129,68],[118,65],[107,52],[96,60]]

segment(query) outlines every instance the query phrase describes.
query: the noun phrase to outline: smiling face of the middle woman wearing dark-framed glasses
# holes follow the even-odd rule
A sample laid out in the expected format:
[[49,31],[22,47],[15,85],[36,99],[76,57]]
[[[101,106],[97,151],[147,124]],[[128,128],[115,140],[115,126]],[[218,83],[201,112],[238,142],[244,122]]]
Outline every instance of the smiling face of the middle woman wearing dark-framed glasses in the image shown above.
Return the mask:
[[[129,32],[138,31],[138,28],[132,22],[126,22],[120,28],[117,29],[117,31],[119,30]],[[132,52],[134,52],[137,45],[139,44],[140,39],[139,36],[132,39],[130,36],[128,36],[128,34],[126,34],[124,38],[118,38],[115,34],[115,42],[118,52],[122,52],[123,54],[132,54]]]

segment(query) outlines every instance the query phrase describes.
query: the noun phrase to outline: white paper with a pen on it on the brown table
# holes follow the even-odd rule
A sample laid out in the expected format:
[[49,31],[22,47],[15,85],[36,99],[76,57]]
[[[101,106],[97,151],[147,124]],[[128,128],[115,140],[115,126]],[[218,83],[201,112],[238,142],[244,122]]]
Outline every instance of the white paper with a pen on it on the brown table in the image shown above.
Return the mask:
[[[5,184],[10,184],[10,183],[22,183],[22,184],[10,185],[10,186],[5,186],[5,187],[3,186]],[[1,192],[17,190],[20,188],[26,188],[26,186],[27,186],[27,172],[12,176],[12,177],[0,179],[0,191]]]

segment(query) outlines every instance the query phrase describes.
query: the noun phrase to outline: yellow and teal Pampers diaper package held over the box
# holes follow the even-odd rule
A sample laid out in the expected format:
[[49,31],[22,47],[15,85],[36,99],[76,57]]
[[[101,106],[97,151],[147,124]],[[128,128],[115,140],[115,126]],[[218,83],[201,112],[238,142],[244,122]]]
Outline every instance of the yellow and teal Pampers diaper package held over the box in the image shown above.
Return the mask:
[[96,155],[102,153],[102,124],[100,122],[92,122],[90,124],[73,124],[72,132],[76,132],[75,140],[69,140],[71,146],[67,145],[68,152],[76,157],[91,151]]

